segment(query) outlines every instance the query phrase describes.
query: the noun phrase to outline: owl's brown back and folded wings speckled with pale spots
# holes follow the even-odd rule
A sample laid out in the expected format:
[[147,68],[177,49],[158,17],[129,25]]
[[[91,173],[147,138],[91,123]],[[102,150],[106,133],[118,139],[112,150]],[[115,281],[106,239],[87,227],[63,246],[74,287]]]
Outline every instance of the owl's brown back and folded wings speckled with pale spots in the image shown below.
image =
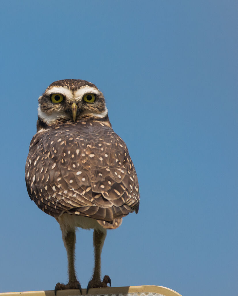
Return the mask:
[[54,217],[70,213],[110,222],[139,209],[134,165],[124,141],[108,127],[36,134],[26,183],[31,199]]

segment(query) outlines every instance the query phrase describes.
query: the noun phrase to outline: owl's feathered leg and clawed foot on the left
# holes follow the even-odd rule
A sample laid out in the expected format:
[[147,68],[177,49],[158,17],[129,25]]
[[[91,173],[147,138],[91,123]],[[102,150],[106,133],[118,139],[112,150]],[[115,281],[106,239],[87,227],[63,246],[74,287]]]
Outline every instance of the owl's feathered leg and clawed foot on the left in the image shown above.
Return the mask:
[[[57,219],[57,221],[58,220],[59,219]],[[75,259],[74,252],[75,252],[75,242],[76,242],[75,228],[74,229],[67,228],[65,227],[65,225],[62,225],[62,224],[60,224],[60,228],[62,230],[62,238],[63,238],[65,249],[68,255],[69,282],[67,285],[64,285],[61,283],[56,284],[55,296],[56,296],[57,290],[63,290],[63,289],[79,289],[82,294],[81,285],[76,278],[75,268],[74,268],[74,259]]]

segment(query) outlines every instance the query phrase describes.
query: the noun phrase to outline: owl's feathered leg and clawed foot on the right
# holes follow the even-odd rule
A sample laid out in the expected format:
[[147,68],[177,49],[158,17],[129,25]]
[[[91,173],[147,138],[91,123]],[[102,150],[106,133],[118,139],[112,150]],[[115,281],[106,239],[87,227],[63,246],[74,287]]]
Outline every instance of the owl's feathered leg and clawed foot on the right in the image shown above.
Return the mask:
[[94,272],[93,278],[88,283],[87,287],[87,294],[88,289],[90,288],[100,288],[100,287],[107,287],[107,284],[111,287],[111,279],[109,276],[104,276],[103,281],[101,281],[101,252],[102,247],[106,238],[106,229],[96,230],[93,231],[93,246],[94,246]]

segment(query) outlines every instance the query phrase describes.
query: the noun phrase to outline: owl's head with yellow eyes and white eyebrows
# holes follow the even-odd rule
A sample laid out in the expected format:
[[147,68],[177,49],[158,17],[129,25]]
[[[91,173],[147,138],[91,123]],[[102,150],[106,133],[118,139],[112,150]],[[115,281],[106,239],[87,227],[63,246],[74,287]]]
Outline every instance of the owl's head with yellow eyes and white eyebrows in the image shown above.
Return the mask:
[[93,83],[79,79],[58,80],[39,97],[37,129],[86,118],[108,119],[107,113],[104,96]]

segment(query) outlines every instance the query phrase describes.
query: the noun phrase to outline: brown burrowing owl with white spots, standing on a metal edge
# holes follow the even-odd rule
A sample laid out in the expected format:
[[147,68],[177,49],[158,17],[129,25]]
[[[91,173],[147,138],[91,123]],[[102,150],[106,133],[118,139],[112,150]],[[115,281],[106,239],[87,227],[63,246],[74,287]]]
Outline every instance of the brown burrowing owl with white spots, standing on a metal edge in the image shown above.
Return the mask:
[[80,289],[75,275],[75,229],[94,229],[95,265],[88,289],[101,281],[101,251],[106,229],[139,209],[139,186],[124,141],[113,131],[101,91],[85,80],[55,81],[39,97],[37,133],[26,162],[29,196],[60,224],[68,254],[69,282],[59,289]]

